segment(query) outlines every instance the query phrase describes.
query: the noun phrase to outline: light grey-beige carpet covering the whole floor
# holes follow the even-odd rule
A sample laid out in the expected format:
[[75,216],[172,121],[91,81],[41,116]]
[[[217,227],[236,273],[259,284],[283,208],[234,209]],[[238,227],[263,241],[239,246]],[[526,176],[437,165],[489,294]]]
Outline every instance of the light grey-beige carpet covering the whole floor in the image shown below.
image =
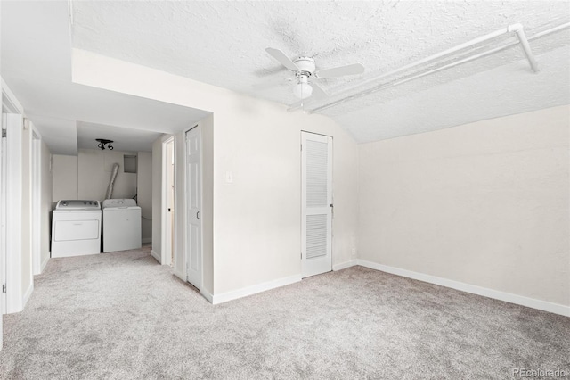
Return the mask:
[[569,352],[570,318],[360,267],[212,306],[145,247],[50,260],[0,376],[502,379]]

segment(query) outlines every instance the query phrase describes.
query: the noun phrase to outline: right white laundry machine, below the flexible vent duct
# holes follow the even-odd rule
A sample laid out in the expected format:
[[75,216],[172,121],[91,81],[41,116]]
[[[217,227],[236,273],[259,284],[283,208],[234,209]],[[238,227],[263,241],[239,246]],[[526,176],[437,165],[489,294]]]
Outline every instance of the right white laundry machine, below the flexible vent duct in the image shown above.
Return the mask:
[[134,199],[106,199],[103,211],[103,252],[141,248],[141,208]]

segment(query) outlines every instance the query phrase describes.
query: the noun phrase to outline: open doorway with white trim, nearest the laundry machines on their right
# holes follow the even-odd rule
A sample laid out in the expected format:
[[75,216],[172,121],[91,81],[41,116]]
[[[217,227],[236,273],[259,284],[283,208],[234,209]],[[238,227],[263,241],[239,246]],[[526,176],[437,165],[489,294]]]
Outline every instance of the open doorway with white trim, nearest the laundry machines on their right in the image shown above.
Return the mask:
[[162,142],[162,264],[175,260],[175,137]]

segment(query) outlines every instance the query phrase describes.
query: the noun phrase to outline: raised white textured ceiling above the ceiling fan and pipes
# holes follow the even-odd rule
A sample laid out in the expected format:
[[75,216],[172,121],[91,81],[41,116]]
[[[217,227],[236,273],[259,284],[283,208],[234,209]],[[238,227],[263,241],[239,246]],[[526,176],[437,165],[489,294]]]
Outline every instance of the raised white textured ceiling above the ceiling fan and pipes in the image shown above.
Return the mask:
[[[318,69],[362,62],[362,76],[322,79],[334,99],[382,73],[522,23],[532,38],[570,20],[563,1],[74,1],[73,45],[279,103],[292,73],[265,53],[314,57]],[[473,51],[516,41],[498,37]],[[568,29],[531,41],[534,74],[515,45],[499,54],[322,111],[359,142],[570,103]],[[469,52],[464,52],[469,53]],[[460,55],[448,57],[457,60]],[[437,62],[436,62],[437,63]],[[439,62],[441,63],[441,62]],[[411,74],[410,72],[409,74]],[[277,83],[264,90],[256,86]],[[306,102],[305,110],[327,103]]]

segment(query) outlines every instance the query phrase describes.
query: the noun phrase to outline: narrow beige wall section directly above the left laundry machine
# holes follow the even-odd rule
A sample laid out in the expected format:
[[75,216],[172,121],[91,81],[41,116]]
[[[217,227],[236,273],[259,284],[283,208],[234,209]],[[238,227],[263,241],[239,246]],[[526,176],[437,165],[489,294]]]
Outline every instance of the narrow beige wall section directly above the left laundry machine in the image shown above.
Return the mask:
[[52,201],[77,198],[77,156],[53,154]]

